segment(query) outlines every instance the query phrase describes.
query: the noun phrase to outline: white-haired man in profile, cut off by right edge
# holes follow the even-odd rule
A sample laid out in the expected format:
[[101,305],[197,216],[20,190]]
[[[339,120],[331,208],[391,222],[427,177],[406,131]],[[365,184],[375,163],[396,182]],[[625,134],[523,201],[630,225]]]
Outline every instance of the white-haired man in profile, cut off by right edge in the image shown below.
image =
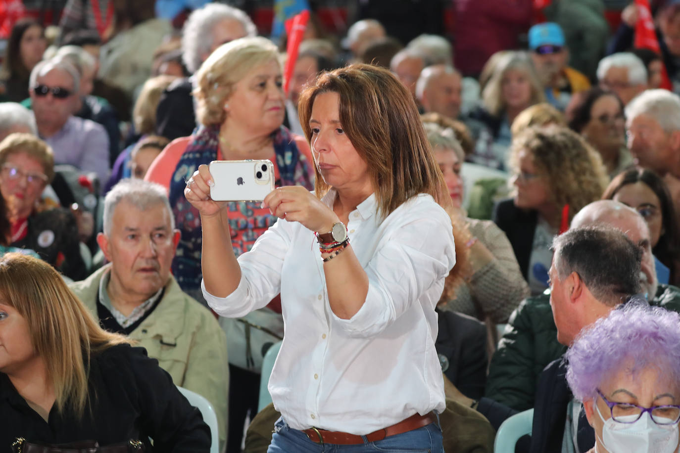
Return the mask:
[[636,164],[663,177],[680,213],[680,97],[647,90],[626,107],[628,149]]

